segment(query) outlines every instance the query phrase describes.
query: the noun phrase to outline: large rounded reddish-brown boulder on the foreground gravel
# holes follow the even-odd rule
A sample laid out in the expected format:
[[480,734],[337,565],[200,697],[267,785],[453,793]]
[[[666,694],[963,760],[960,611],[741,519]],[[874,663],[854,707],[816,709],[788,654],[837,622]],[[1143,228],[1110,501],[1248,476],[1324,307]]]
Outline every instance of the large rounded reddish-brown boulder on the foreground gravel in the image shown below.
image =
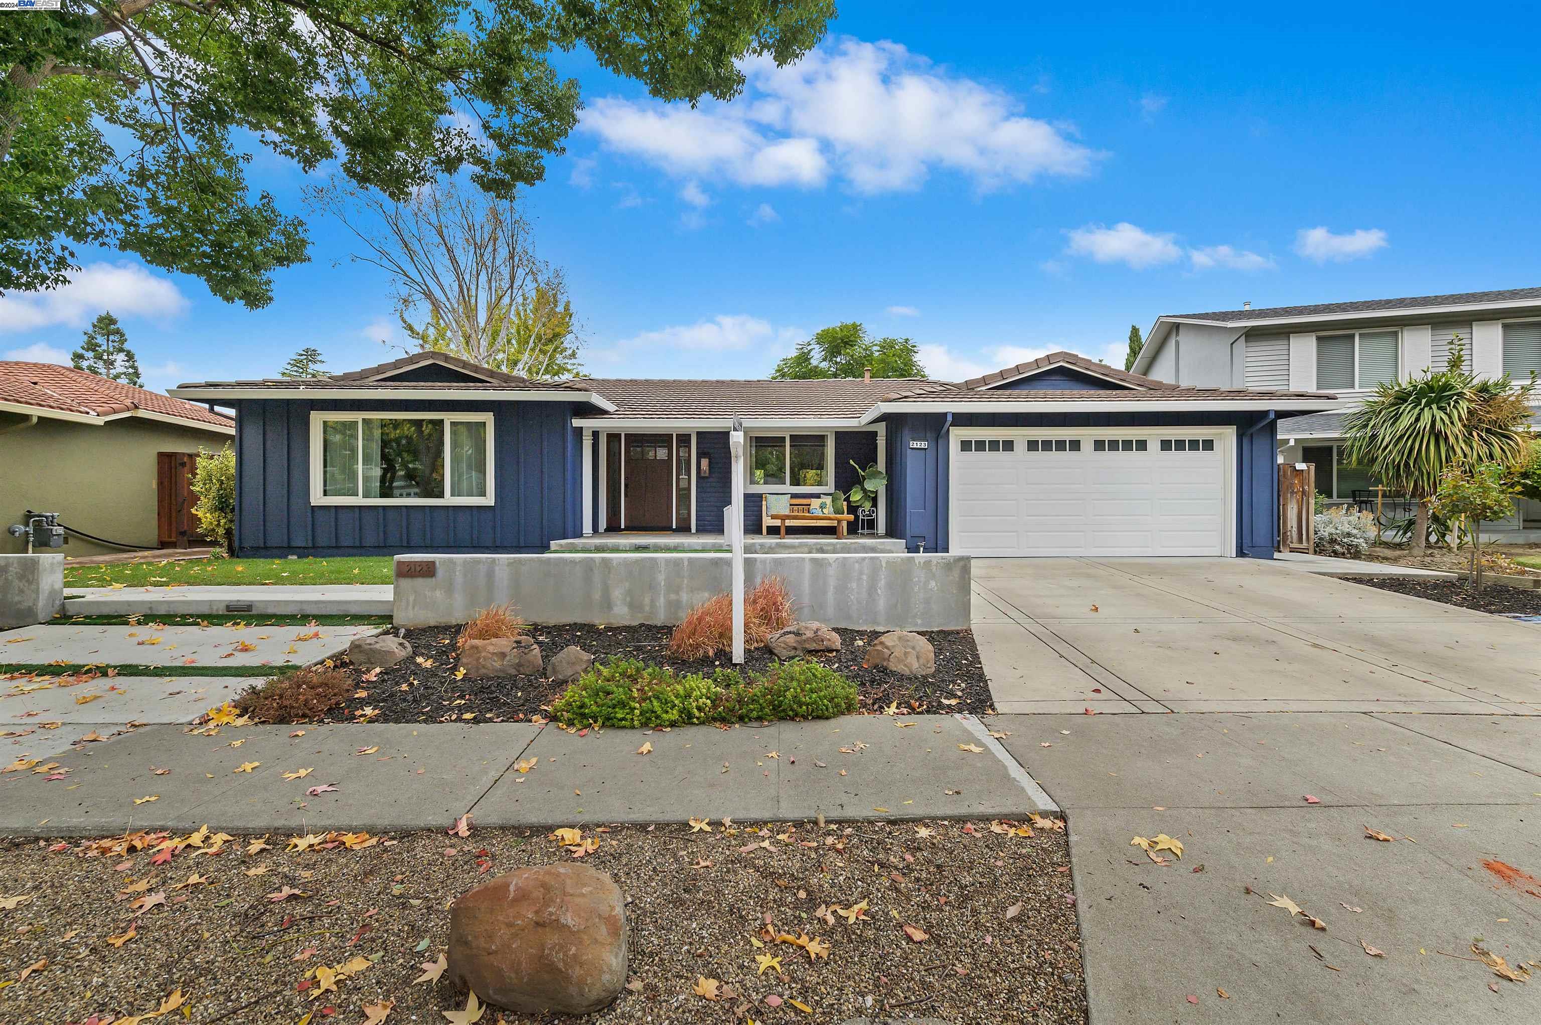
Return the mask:
[[587,865],[518,868],[450,911],[448,976],[487,1003],[589,1014],[626,985],[626,906]]

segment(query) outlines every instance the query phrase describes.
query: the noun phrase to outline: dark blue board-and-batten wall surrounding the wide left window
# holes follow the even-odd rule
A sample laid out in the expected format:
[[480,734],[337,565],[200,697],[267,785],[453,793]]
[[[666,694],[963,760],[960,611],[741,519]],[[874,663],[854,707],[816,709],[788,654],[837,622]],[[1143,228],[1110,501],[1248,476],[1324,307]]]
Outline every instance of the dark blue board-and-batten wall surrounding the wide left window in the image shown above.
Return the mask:
[[[242,399],[236,550],[247,556],[544,552],[582,533],[579,432],[566,402]],[[492,413],[492,506],[311,506],[310,415]]]

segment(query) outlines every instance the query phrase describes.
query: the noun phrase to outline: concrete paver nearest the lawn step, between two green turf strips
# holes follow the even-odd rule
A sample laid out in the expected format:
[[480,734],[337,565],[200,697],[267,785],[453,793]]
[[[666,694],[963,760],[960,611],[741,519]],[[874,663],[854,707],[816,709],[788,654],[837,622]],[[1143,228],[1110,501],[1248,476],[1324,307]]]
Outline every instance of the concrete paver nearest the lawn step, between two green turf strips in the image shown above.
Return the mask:
[[347,650],[378,626],[29,626],[0,630],[0,664],[270,666]]

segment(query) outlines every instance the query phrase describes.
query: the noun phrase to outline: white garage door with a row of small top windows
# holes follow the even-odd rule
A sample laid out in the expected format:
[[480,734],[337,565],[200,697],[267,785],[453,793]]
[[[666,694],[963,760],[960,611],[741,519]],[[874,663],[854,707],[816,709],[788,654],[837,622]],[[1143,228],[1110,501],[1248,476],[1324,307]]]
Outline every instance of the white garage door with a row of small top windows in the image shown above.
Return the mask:
[[960,555],[1234,555],[1230,432],[954,430]]

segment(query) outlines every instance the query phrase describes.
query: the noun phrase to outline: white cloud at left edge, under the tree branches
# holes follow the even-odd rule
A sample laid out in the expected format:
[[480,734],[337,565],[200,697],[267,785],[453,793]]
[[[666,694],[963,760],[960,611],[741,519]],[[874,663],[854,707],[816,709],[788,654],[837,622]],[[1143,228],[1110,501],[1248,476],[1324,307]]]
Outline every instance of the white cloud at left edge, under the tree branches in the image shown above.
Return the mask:
[[156,277],[142,264],[88,264],[68,285],[52,291],[14,291],[0,296],[0,331],[42,327],[85,327],[111,310],[122,318],[170,318],[186,310],[186,299],[168,277]]

